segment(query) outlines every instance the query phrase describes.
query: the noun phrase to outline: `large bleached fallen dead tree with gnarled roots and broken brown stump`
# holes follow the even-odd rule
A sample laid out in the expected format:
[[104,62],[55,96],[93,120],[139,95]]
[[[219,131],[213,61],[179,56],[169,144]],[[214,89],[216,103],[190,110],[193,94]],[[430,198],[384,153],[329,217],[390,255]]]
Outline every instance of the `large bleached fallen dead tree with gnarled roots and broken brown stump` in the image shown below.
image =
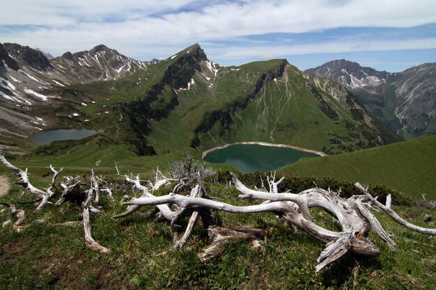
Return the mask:
[[[127,177],[126,177],[127,178]],[[395,250],[396,244],[384,231],[382,225],[370,209],[377,207],[386,212],[397,223],[412,229],[422,234],[436,235],[436,229],[426,229],[417,227],[407,223],[400,218],[390,207],[387,207],[371,196],[367,189],[356,184],[361,190],[362,195],[353,195],[348,199],[341,198],[333,191],[311,188],[302,191],[298,194],[294,193],[277,193],[277,184],[281,182],[274,181],[274,177],[267,179],[270,186],[270,192],[254,191],[247,186],[244,186],[240,180],[233,175],[233,183],[238,191],[242,193],[239,198],[251,198],[256,200],[264,200],[262,204],[238,207],[225,202],[217,202],[198,197],[196,195],[184,196],[178,195],[176,192],[169,195],[155,197],[150,193],[146,193],[141,198],[134,198],[129,202],[125,202],[128,207],[141,207],[145,205],[155,205],[159,210],[164,207],[166,213],[163,214],[167,219],[174,223],[174,216],[178,216],[180,209],[191,209],[194,213],[199,213],[203,220],[203,226],[208,228],[210,233],[211,243],[203,252],[198,254],[203,260],[210,259],[221,255],[224,250],[224,243],[231,239],[256,239],[265,233],[259,229],[225,229],[218,225],[211,218],[211,209],[219,211],[228,211],[234,214],[247,214],[256,212],[270,211],[277,216],[286,220],[290,225],[294,225],[299,229],[304,230],[319,241],[326,243],[326,248],[318,257],[318,266],[316,271],[320,271],[325,266],[337,261],[347,252],[364,257],[376,257],[380,254],[380,249],[374,245],[367,236],[371,227],[380,238],[389,245],[392,250]],[[202,188],[202,182],[199,182],[198,188]],[[390,203],[390,198],[388,198]],[[169,204],[176,204],[176,210],[171,211]],[[311,212],[312,207],[320,207],[331,214],[342,227],[341,232],[334,232],[325,229],[313,223]],[[117,218],[120,215],[116,216]],[[188,224],[185,235],[189,237],[192,228],[192,223]],[[224,234],[223,234],[224,233]],[[177,243],[176,243],[177,245]],[[215,250],[217,249],[217,250]]]

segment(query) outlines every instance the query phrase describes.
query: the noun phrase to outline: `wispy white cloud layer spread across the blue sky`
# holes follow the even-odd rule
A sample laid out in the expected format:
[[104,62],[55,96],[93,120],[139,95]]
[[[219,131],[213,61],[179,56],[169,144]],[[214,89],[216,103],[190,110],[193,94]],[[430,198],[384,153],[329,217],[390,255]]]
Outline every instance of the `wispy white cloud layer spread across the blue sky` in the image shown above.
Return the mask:
[[[53,55],[104,43],[127,56],[169,56],[194,42],[338,27],[412,27],[436,23],[434,0],[104,1],[6,0],[0,41],[40,47]],[[21,29],[8,29],[20,25]],[[27,27],[29,26],[29,27]],[[358,40],[360,41],[360,40]],[[434,40],[331,42],[319,45],[227,48],[224,56],[433,47]],[[258,53],[256,53],[258,49]],[[240,52],[238,52],[240,51]],[[250,52],[252,51],[252,52]],[[308,53],[308,52],[306,52]]]

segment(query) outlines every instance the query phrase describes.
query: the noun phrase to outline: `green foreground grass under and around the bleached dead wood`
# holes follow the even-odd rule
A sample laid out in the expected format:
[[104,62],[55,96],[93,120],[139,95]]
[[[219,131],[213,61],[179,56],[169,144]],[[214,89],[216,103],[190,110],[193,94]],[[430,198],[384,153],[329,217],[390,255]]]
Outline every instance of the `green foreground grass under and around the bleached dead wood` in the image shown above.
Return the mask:
[[[38,186],[48,181],[36,178]],[[209,184],[210,195],[232,204],[253,204],[238,200],[235,188]],[[168,193],[171,188],[160,191]],[[13,185],[7,200],[25,200],[22,188]],[[10,225],[0,229],[0,289],[431,289],[436,283],[436,240],[409,232],[382,213],[376,213],[382,225],[394,235],[398,250],[392,252],[375,236],[380,248],[375,258],[346,255],[333,266],[315,274],[316,259],[325,245],[301,230],[288,227],[274,214],[228,214],[217,212],[228,227],[260,227],[268,234],[260,241],[263,250],[251,250],[249,242],[226,245],[222,257],[209,263],[196,258],[208,243],[202,227],[196,227],[192,239],[182,250],[171,250],[171,226],[156,222],[153,207],[119,220],[111,219],[125,206],[119,203],[125,194],[116,192],[116,202],[102,197],[102,214],[92,216],[93,236],[109,248],[108,255],[88,250],[81,227],[63,227],[56,223],[80,220],[79,209],[65,203],[33,211],[33,204],[22,204],[24,225],[33,225],[20,233]],[[55,198],[56,200],[56,198]],[[425,209],[395,207],[407,220],[418,225]],[[312,211],[314,222],[337,230],[336,223],[320,210]],[[0,213],[0,223],[10,218]],[[33,223],[36,219],[44,223]],[[355,275],[356,274],[356,275]]]

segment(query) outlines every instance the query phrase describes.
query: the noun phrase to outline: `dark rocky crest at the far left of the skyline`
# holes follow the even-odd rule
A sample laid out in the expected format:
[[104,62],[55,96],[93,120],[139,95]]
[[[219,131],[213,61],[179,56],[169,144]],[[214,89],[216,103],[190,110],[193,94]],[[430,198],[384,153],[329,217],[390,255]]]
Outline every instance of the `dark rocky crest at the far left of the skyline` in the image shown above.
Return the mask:
[[52,67],[48,58],[42,54],[42,51],[27,46],[24,47],[22,45],[17,45],[16,43],[3,43],[3,47],[10,56],[23,65],[44,71]]

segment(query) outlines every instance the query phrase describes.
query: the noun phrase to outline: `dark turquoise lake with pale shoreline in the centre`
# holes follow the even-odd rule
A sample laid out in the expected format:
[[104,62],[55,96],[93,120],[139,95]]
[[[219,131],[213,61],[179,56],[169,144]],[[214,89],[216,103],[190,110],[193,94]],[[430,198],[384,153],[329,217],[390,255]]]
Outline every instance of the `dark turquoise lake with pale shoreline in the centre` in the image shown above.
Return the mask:
[[319,157],[319,155],[291,149],[257,144],[237,144],[212,151],[204,156],[210,163],[232,164],[240,172],[279,170],[302,157]]

